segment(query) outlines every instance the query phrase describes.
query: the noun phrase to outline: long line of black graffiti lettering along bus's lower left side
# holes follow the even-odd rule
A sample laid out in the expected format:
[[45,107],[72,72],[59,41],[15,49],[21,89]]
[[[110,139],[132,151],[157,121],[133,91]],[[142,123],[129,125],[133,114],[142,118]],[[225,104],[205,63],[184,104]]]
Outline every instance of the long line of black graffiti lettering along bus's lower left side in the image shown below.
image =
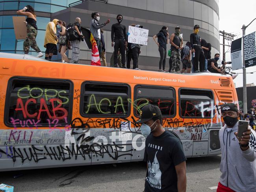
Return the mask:
[[[132,145],[132,144],[128,144]],[[1,150],[0,152],[5,154],[7,158],[11,158],[13,162],[16,162],[17,159],[20,159],[22,163],[27,161],[39,162],[46,158],[50,158],[51,160],[56,161],[66,161],[72,159],[77,160],[78,157],[82,157],[83,160],[87,158],[91,159],[92,154],[96,155],[96,157],[104,158],[104,155],[109,155],[113,160],[119,159],[119,157],[127,155],[132,156],[131,151],[133,149],[127,151],[121,151],[124,147],[119,146],[113,142],[112,144],[83,144],[78,145],[72,143],[71,146],[43,146],[43,148],[39,148],[37,146],[32,145],[31,147],[17,148],[15,146],[6,146],[6,150]]]

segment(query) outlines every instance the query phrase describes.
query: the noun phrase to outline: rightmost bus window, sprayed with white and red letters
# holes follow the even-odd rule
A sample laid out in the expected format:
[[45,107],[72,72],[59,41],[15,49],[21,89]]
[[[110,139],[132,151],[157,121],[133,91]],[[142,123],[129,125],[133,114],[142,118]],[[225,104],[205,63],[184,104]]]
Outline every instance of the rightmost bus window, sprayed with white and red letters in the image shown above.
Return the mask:
[[210,90],[180,89],[180,116],[184,118],[213,118],[213,93]]

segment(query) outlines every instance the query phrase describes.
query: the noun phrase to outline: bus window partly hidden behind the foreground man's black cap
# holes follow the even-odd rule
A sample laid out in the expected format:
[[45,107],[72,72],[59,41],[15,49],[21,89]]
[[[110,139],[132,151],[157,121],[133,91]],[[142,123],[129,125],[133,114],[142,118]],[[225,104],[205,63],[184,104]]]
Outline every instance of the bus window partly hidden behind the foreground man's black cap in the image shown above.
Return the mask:
[[163,117],[174,116],[174,89],[171,87],[136,86],[134,96],[134,114],[139,116],[141,107],[150,103],[157,105]]

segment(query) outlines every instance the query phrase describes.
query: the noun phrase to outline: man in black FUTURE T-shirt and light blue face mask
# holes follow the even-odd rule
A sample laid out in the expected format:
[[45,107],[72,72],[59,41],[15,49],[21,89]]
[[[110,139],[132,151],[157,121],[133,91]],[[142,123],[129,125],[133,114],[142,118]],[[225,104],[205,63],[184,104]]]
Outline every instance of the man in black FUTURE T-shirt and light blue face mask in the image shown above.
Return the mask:
[[145,141],[147,162],[145,192],[186,192],[186,157],[182,143],[162,126],[158,106],[147,104],[140,111],[141,133]]

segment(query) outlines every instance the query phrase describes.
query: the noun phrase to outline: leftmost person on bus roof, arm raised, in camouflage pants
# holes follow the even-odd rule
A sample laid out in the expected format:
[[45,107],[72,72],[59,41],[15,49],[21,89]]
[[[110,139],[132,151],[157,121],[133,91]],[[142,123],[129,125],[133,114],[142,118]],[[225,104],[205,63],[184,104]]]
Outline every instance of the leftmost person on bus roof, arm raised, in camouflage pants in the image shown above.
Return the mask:
[[26,24],[27,24],[27,37],[23,43],[23,50],[25,54],[28,54],[30,46],[33,50],[37,52],[37,57],[42,57],[43,54],[39,47],[37,46],[37,42],[35,38],[37,37],[37,16],[35,15],[35,11],[32,6],[27,5],[23,9],[17,11],[18,15],[25,15]]

